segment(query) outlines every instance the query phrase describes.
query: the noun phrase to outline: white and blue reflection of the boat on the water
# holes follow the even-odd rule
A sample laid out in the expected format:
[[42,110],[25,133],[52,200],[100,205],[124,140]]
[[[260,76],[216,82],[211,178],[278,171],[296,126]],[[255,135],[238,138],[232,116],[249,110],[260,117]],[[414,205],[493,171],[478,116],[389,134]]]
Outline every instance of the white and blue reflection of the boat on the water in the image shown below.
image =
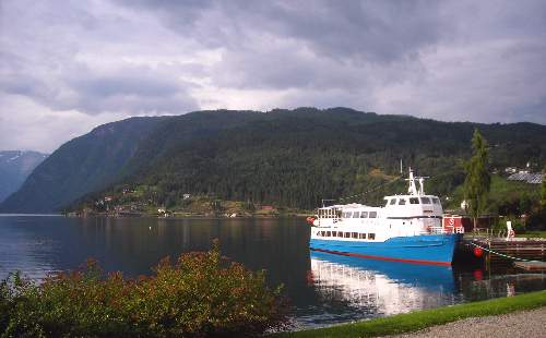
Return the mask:
[[364,259],[311,251],[309,281],[323,302],[343,302],[364,317],[453,304],[450,266]]

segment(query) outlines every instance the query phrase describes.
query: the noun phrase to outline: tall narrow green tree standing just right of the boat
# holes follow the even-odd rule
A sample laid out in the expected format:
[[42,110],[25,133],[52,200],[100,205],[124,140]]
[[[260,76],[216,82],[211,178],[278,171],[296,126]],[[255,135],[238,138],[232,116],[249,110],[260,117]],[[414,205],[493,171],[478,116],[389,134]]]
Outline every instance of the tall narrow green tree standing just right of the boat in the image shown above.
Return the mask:
[[474,230],[479,215],[485,210],[487,194],[491,185],[491,176],[487,171],[489,152],[487,141],[477,129],[472,136],[473,156],[465,165],[464,196],[474,221]]

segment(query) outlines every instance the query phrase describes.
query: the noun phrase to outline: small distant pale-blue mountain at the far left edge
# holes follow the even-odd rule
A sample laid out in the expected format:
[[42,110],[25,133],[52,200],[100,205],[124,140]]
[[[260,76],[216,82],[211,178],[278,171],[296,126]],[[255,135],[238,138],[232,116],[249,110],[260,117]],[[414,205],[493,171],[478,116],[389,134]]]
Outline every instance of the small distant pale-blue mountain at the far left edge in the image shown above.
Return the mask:
[[19,190],[31,172],[45,158],[38,152],[0,152],[0,202]]

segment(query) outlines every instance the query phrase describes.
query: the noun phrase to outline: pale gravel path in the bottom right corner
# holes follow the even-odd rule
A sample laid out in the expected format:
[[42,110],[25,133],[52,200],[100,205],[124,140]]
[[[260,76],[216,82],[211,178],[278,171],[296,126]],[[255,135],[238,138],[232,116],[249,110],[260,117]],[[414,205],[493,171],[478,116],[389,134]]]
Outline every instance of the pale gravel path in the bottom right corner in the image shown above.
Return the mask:
[[413,334],[390,337],[546,337],[546,307],[499,316],[466,318]]

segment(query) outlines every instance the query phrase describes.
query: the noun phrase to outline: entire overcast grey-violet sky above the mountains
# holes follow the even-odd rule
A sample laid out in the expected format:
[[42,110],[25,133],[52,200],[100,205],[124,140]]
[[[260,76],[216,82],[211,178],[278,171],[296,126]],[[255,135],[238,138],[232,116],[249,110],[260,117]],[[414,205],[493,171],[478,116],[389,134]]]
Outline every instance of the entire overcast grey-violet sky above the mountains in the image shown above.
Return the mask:
[[0,149],[300,106],[546,124],[546,1],[0,0]]

